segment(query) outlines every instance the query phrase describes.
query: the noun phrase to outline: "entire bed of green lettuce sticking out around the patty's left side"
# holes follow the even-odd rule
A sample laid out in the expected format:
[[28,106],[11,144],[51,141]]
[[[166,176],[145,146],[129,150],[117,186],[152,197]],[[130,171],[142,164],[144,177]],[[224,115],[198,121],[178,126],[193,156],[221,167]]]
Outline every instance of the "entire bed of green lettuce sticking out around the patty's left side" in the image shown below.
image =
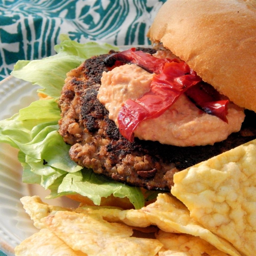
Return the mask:
[[0,142],[19,149],[23,182],[38,183],[49,189],[47,198],[79,193],[99,205],[102,197],[113,194],[129,198],[134,207],[140,209],[145,201],[140,189],[78,166],[69,157],[70,145],[58,134],[58,97],[66,73],[85,58],[108,53],[110,49],[117,48],[95,42],[79,44],[63,35],[61,43],[55,46],[57,54],[41,60],[18,61],[12,75],[38,84],[41,87],[38,92],[52,99],[32,102],[11,118],[0,121]]

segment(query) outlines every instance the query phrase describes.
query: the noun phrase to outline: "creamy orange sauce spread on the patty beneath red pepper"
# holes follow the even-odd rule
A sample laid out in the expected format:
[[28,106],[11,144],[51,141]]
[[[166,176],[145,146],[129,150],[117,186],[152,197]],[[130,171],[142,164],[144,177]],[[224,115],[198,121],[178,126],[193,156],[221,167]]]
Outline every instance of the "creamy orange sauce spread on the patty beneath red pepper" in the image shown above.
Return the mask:
[[[175,58],[160,51],[157,57]],[[120,108],[127,99],[137,99],[150,90],[154,74],[136,65],[125,64],[102,74],[98,99],[109,111],[109,118],[118,126]],[[135,129],[135,137],[141,140],[159,141],[176,146],[214,144],[227,139],[228,135],[241,129],[244,112],[229,104],[228,124],[216,116],[199,110],[186,95],[180,98],[161,116],[141,122]]]

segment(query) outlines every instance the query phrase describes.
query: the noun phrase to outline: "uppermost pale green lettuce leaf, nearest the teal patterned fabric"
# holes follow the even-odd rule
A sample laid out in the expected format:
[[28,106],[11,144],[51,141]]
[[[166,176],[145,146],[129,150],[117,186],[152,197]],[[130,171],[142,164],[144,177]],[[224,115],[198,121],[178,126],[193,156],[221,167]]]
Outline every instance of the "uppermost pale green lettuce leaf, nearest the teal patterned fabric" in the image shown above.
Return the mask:
[[78,67],[85,59],[108,53],[111,49],[118,48],[96,42],[80,44],[67,35],[61,35],[61,43],[55,46],[57,54],[41,60],[17,61],[11,75],[38,84],[42,87],[38,92],[58,98],[68,71]]

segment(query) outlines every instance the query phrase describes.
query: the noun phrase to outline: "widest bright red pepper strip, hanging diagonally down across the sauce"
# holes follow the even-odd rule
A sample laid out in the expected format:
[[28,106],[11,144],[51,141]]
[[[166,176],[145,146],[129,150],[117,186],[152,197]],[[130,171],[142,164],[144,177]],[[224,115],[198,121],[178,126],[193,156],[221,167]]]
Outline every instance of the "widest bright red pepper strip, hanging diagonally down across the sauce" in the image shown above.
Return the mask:
[[129,141],[134,140],[134,130],[140,122],[160,116],[189,87],[201,78],[181,61],[164,64],[163,72],[154,76],[151,90],[140,99],[128,99],[119,111],[119,130]]

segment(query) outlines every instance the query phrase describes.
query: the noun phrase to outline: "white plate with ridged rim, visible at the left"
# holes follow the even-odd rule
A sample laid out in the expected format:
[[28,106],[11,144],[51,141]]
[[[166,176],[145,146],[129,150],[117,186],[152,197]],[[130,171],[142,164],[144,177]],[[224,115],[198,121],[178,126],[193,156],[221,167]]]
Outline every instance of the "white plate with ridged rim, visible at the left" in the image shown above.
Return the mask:
[[[29,82],[9,76],[0,82],[0,120],[11,117],[20,108],[27,107],[38,99],[38,87]],[[39,195],[52,205],[77,205],[68,198],[44,200],[47,191],[39,185],[22,183],[23,169],[17,160],[17,150],[0,143],[0,250],[9,256],[21,241],[38,230],[23,209],[20,198],[26,195]]]

